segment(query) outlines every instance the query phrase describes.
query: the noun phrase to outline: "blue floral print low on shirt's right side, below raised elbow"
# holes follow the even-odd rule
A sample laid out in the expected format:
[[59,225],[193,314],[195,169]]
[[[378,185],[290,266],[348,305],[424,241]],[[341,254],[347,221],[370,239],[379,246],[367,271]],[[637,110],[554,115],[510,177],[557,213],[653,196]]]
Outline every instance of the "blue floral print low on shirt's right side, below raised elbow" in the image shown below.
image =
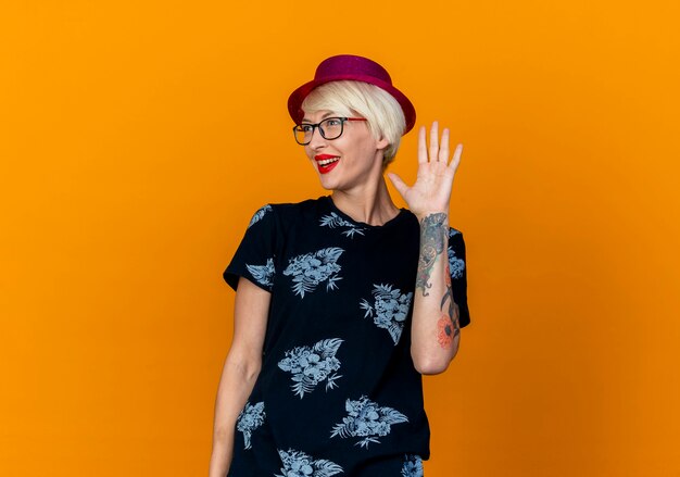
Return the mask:
[[407,423],[408,418],[396,410],[379,406],[365,396],[357,401],[347,400],[348,416],[332,428],[330,437],[363,437],[355,445],[368,448],[370,442],[380,443],[378,437],[390,434],[393,424]]

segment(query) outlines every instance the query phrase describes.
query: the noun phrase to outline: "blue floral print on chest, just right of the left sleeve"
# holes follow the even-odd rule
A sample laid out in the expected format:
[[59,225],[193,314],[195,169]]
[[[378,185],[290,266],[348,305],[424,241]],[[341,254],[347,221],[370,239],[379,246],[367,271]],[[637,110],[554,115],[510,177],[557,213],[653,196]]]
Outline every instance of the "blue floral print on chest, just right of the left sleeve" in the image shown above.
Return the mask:
[[293,292],[304,298],[304,293],[316,290],[323,281],[326,281],[326,291],[337,289],[337,281],[342,279],[338,276],[341,267],[337,263],[342,252],[339,247],[330,247],[291,259],[284,275],[293,277]]

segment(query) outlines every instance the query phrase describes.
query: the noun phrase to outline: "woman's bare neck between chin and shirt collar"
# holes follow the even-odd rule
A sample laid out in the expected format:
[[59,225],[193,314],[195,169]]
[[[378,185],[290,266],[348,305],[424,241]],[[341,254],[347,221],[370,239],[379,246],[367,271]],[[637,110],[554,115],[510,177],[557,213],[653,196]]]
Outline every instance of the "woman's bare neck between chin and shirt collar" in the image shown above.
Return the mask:
[[373,187],[364,186],[352,190],[333,190],[333,204],[355,222],[383,225],[399,214],[387,190],[385,177]]

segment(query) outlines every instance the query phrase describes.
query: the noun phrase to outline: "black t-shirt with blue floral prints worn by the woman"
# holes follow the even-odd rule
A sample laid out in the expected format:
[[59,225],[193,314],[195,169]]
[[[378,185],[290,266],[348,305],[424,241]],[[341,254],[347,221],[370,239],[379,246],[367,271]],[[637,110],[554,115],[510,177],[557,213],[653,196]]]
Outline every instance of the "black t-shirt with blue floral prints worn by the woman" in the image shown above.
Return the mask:
[[[229,476],[421,475],[423,386],[411,357],[419,225],[357,223],[330,197],[260,209],[225,280],[272,293],[262,369],[236,424]],[[465,244],[449,263],[469,323]]]

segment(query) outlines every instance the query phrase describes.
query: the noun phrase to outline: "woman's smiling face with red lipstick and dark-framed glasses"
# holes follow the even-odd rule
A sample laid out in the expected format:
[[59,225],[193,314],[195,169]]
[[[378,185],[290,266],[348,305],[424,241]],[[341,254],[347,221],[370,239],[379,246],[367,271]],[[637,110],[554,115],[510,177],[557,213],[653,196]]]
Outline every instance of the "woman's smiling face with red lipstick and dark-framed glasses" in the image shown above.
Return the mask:
[[[302,122],[317,124],[338,116],[342,115],[318,111],[305,114]],[[325,139],[316,128],[304,151],[324,189],[349,191],[378,183],[382,176],[382,151],[387,146],[387,140],[374,138],[365,121],[347,121],[337,139]]]

